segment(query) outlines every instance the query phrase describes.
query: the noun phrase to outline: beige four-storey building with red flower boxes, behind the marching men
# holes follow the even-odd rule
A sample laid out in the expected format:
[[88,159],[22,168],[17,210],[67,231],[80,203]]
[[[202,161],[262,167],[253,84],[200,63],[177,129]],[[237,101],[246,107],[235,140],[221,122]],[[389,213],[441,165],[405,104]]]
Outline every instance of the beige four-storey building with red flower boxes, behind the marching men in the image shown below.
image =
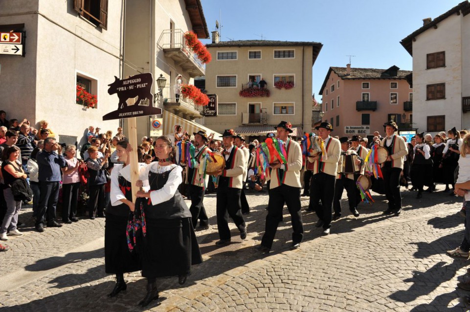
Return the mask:
[[[281,120],[291,122],[294,135],[310,132],[312,124],[312,67],[322,44],[241,40],[219,42],[213,32],[207,45],[212,62],[206,66],[205,89],[217,94],[216,117],[204,125],[218,132],[234,129],[249,139],[263,138]],[[263,78],[268,96],[244,97],[239,92]],[[275,82],[291,82],[291,89],[276,89]],[[255,83],[256,82],[256,83]]]

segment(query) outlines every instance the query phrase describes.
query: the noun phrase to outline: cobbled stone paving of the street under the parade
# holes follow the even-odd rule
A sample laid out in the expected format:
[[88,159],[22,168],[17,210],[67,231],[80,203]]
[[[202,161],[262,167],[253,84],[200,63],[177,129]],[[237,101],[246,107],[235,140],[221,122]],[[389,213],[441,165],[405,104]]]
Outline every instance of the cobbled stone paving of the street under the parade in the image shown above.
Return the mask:
[[[442,190],[438,186],[438,191]],[[469,293],[456,288],[469,280],[464,259],[446,254],[460,244],[462,199],[448,193],[402,188],[403,213],[385,216],[384,196],[360,204],[360,216],[343,216],[332,234],[321,237],[314,213],[303,212],[304,242],[289,250],[287,209],[268,255],[255,246],[264,232],[267,193],[247,193],[248,237],[235,226],[232,244],[216,248],[216,226],[197,232],[204,262],[193,267],[185,285],[177,278],[158,279],[161,305],[150,311],[468,311]],[[345,195],[345,194],[344,194]],[[215,194],[204,205],[215,224]],[[302,197],[303,208],[308,199]],[[25,235],[13,237],[0,253],[2,311],[145,311],[136,304],[146,282],[139,272],[126,274],[127,291],[110,299],[114,278],[104,272],[104,219],[81,220],[61,228],[33,230],[30,209],[22,211]]]

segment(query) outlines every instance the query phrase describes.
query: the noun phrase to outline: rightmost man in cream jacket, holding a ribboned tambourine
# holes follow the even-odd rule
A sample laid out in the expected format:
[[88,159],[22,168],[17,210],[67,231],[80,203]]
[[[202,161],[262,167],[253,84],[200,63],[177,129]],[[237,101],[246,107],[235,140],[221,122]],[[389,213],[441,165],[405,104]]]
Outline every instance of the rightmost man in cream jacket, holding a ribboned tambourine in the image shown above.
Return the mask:
[[387,136],[380,141],[380,146],[388,152],[387,159],[381,168],[385,196],[388,200],[388,209],[383,213],[387,215],[395,213],[398,216],[402,212],[400,175],[403,170],[403,156],[408,154],[408,149],[403,138],[394,134],[398,131],[398,126],[394,121],[389,121],[383,126]]

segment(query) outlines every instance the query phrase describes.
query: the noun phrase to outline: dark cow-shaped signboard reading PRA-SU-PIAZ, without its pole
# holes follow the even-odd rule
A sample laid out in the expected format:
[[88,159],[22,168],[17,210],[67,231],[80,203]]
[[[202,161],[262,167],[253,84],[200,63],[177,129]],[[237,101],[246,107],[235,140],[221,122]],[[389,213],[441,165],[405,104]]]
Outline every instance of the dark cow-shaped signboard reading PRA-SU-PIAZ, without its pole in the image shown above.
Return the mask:
[[[140,116],[158,115],[162,110],[153,107],[152,84],[154,78],[151,73],[143,73],[131,76],[126,79],[119,79],[114,76],[114,82],[109,84],[108,93],[117,94],[119,103],[117,110],[107,113],[103,120],[131,118]],[[129,105],[127,101],[134,99],[135,104]]]

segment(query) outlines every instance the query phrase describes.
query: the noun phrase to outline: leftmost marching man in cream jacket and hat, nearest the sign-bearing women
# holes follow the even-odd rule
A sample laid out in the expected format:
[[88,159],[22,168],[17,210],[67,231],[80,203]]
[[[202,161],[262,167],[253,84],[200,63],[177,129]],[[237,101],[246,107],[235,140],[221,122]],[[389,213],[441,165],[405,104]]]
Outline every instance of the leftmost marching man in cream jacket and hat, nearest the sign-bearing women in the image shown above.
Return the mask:
[[[201,165],[201,159],[205,161],[203,156],[210,151],[206,146],[209,138],[202,130],[193,134],[194,147],[196,147],[194,151],[196,166],[188,169],[189,196],[191,197],[191,207],[189,207],[189,211],[191,212],[193,227],[196,230],[206,230],[209,228],[209,218],[205,212],[203,200],[209,176],[204,173],[204,177],[201,177],[199,166]],[[199,227],[196,227],[198,220]]]

